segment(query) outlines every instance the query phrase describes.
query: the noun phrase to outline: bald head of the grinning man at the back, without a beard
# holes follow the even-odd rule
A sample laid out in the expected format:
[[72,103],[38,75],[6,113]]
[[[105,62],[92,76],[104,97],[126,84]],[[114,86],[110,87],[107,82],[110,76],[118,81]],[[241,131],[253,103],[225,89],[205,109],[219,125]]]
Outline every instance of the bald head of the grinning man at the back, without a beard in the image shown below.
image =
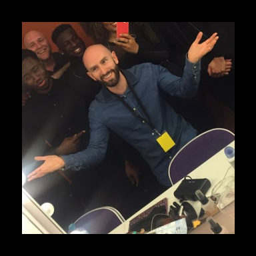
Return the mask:
[[47,61],[51,57],[51,45],[39,31],[29,31],[23,39],[23,44],[27,49],[34,51],[41,61]]

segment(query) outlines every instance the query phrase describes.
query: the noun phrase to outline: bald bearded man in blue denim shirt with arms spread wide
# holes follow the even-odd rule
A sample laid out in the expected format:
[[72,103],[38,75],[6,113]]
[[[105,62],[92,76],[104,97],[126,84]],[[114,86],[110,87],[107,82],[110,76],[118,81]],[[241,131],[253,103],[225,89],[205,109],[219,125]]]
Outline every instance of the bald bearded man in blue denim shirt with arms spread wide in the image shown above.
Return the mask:
[[171,158],[197,131],[163,100],[160,90],[177,97],[193,97],[197,93],[200,60],[219,38],[215,33],[200,44],[202,37],[203,33],[199,33],[189,49],[182,78],[151,63],[120,71],[115,52],[110,53],[103,45],[87,48],[83,56],[87,74],[103,84],[89,109],[89,146],[75,155],[36,157],[45,163],[29,174],[29,181],[62,167],[77,170],[99,163],[111,130],[143,155],[159,183],[171,185]]

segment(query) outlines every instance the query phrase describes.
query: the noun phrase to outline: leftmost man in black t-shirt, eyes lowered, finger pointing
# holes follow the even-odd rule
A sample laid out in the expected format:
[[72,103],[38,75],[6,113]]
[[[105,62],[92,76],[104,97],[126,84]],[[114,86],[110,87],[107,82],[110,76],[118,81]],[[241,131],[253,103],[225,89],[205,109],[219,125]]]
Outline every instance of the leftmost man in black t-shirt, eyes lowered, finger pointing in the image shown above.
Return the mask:
[[65,155],[87,147],[89,121],[83,95],[51,78],[37,55],[27,49],[22,49],[22,85],[33,91],[22,108],[24,155],[49,149]]

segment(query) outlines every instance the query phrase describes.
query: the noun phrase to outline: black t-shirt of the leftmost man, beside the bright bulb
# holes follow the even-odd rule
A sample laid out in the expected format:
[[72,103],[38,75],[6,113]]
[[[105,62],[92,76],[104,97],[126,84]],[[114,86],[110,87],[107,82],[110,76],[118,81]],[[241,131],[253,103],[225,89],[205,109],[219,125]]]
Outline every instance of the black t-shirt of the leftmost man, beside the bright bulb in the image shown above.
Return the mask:
[[23,156],[45,154],[85,130],[81,149],[89,143],[88,103],[63,81],[53,80],[48,94],[33,93],[22,108]]

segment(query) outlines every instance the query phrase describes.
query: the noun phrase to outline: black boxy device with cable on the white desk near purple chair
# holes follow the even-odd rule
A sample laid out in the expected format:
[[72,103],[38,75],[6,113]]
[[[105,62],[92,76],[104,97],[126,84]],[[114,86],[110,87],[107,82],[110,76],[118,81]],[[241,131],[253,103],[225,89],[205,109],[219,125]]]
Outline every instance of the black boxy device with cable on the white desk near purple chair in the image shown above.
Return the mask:
[[[189,176],[187,176],[189,177]],[[179,187],[174,191],[174,196],[182,201],[197,201],[195,191],[200,190],[203,194],[207,193],[211,187],[211,182],[209,179],[183,179]]]

